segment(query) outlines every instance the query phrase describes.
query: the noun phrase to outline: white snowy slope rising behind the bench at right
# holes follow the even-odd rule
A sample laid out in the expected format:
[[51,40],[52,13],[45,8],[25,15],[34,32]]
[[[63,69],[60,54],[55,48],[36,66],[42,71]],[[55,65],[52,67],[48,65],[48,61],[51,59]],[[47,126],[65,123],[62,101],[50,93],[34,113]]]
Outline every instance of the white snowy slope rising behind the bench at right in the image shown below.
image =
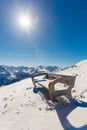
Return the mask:
[[74,90],[72,92],[73,96],[87,96],[87,60],[80,61],[79,63],[68,69],[59,71],[58,74],[76,76]]

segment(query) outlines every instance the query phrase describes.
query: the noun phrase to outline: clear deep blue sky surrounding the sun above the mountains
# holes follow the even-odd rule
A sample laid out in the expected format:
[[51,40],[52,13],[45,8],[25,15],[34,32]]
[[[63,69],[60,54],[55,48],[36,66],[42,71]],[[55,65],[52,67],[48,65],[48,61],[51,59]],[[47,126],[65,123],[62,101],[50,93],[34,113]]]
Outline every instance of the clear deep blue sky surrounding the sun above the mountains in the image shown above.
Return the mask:
[[[20,11],[36,20],[21,30]],[[70,66],[87,59],[86,0],[0,0],[0,64]]]

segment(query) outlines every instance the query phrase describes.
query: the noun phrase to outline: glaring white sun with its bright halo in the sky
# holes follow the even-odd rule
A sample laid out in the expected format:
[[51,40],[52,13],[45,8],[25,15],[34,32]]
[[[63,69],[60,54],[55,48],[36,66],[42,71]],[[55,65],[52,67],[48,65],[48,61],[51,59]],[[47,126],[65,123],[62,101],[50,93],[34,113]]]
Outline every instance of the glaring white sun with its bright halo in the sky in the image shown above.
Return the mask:
[[23,32],[32,32],[38,31],[37,23],[38,23],[38,15],[35,16],[33,13],[30,14],[28,11],[19,11],[16,15],[16,25]]

